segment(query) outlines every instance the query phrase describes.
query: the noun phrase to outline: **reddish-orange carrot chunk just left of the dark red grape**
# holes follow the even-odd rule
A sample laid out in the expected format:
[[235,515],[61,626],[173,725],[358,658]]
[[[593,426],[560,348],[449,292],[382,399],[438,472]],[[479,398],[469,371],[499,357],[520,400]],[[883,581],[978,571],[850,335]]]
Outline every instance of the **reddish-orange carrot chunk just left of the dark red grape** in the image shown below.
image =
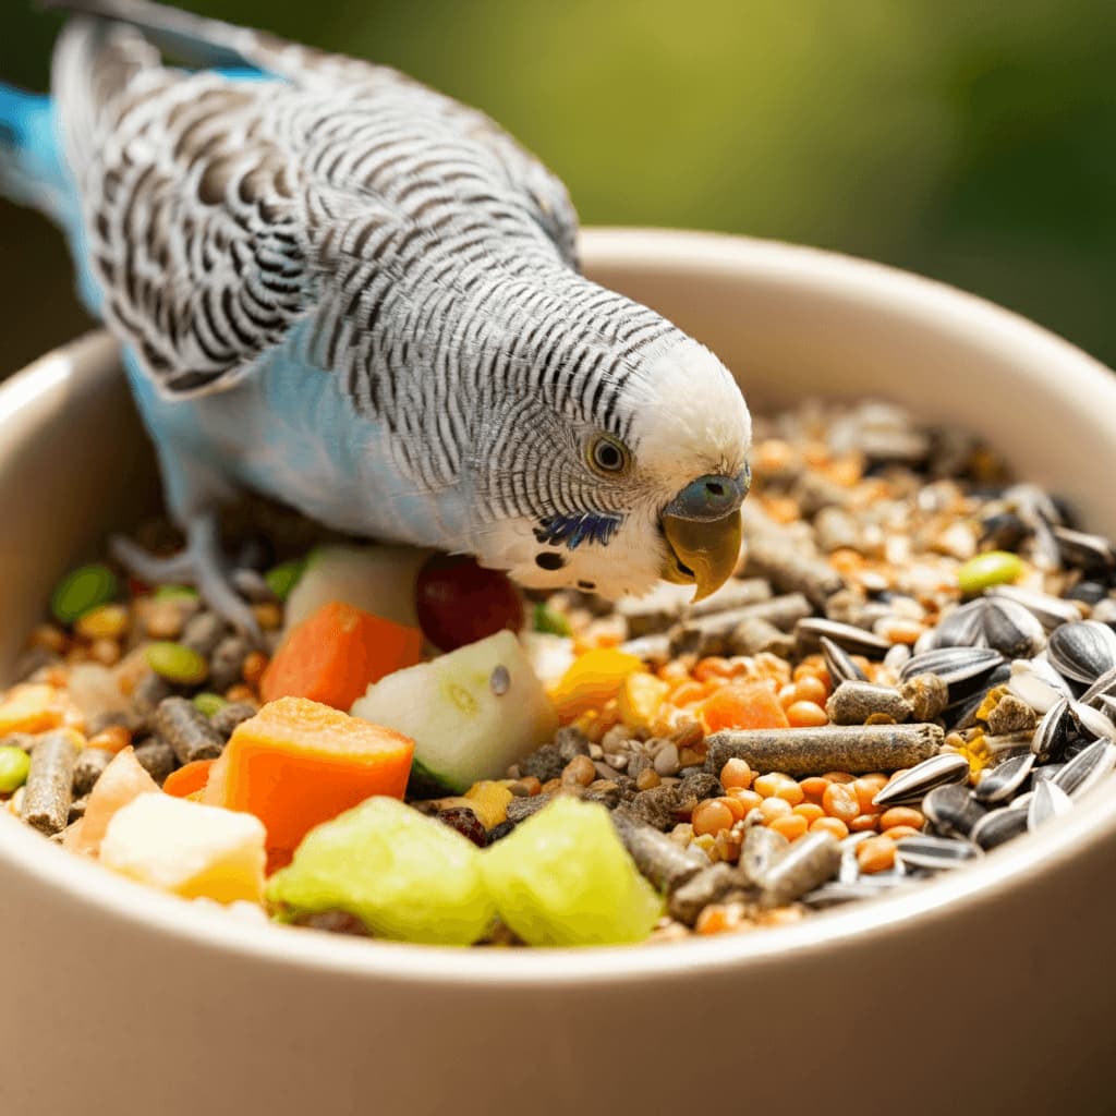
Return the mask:
[[260,680],[266,702],[309,698],[346,712],[368,685],[422,658],[422,633],[340,600],[297,625]]

